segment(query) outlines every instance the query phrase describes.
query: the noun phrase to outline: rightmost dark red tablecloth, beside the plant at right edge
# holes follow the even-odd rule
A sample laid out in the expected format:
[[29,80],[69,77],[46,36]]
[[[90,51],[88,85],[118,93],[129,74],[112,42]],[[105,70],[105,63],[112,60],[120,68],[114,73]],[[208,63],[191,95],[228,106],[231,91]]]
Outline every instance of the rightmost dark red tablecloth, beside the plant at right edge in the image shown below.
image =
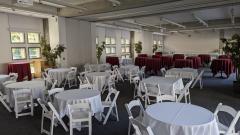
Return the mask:
[[213,76],[219,71],[224,72],[227,77],[233,72],[233,64],[231,59],[214,59],[211,64]]

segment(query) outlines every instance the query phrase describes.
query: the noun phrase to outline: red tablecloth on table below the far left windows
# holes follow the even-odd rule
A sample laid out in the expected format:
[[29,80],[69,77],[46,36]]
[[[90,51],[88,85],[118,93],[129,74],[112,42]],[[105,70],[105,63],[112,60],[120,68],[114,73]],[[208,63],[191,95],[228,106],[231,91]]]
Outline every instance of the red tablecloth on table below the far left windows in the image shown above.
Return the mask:
[[16,62],[8,64],[8,73],[18,73],[17,81],[23,81],[25,76],[32,80],[31,68],[29,62]]

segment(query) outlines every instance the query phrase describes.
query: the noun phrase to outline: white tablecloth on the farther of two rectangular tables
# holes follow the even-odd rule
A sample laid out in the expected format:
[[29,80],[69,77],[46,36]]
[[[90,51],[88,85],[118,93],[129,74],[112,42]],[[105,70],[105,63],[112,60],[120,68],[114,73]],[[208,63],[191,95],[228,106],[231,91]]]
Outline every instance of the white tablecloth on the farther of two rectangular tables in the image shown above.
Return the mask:
[[185,77],[191,74],[191,76],[193,76],[194,78],[197,78],[198,70],[193,68],[172,68],[167,70],[166,72],[166,75],[175,75],[175,74],[182,74],[182,76],[185,76]]

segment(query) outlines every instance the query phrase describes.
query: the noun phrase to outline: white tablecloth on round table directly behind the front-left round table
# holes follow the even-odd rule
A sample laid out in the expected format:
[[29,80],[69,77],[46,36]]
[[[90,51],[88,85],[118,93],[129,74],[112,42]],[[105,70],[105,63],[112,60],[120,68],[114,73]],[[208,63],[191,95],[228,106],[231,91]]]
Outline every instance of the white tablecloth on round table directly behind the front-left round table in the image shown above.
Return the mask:
[[110,74],[107,72],[91,72],[87,73],[86,76],[93,83],[93,89],[102,91],[102,88]]

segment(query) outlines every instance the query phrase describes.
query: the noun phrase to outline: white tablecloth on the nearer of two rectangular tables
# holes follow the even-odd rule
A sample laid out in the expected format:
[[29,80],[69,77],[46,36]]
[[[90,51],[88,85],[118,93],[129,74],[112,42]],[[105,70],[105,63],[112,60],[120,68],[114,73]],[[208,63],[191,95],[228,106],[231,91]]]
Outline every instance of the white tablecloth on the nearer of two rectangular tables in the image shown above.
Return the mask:
[[[151,76],[149,78],[143,79],[141,81],[141,85],[143,85],[143,83],[154,85],[159,84],[161,93],[167,95],[171,94],[171,91],[176,92],[184,88],[181,78]],[[144,91],[143,87],[140,87],[140,90]]]

